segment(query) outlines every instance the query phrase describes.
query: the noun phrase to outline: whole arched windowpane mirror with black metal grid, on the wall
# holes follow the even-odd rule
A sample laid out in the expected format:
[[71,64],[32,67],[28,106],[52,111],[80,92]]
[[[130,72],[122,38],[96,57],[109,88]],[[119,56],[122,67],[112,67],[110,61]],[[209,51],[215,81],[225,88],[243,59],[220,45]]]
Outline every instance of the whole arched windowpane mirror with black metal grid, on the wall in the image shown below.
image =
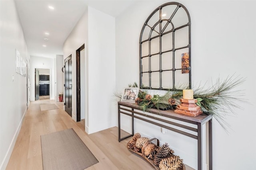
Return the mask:
[[140,88],[191,88],[191,34],[188,10],[178,2],[156,8],[140,33]]

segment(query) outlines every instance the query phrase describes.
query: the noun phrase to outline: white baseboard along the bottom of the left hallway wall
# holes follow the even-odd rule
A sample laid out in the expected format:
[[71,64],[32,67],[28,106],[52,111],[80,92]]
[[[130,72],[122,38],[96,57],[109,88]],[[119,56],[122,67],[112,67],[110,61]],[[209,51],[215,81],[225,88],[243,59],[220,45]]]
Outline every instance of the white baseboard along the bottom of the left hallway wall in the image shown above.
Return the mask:
[[20,121],[20,124],[19,124],[19,126],[18,126],[18,128],[17,128],[17,130],[16,130],[16,132],[15,132],[14,137],[12,138],[12,142],[11,142],[11,144],[10,144],[10,147],[8,148],[7,153],[6,153],[6,155],[4,156],[4,160],[3,160],[3,162],[2,162],[2,164],[1,164],[1,166],[0,166],[0,170],[5,170],[6,167],[7,167],[7,164],[8,164],[8,162],[9,162],[9,159],[10,159],[10,157],[11,157],[11,155],[12,155],[12,150],[13,150],[13,148],[14,148],[14,145],[15,145],[16,140],[17,140],[17,138],[18,138],[18,135],[19,135],[19,133],[20,133],[20,128],[21,128],[21,125],[22,125],[22,123],[23,123],[23,121],[24,121],[24,117],[25,117],[26,111],[27,111],[27,109],[26,109],[25,112],[23,113],[23,116],[22,116],[22,119],[21,119],[21,121]]

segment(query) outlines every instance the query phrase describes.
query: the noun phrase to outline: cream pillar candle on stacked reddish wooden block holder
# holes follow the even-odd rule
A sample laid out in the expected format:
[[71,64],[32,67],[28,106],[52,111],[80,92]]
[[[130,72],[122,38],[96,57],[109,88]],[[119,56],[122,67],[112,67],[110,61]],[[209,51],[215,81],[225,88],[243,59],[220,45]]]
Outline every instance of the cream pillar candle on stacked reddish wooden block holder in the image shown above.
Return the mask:
[[181,103],[177,106],[177,109],[174,110],[174,112],[190,116],[198,116],[202,114],[201,107],[196,105],[197,100],[193,97],[193,90],[183,90],[183,98],[180,99]]

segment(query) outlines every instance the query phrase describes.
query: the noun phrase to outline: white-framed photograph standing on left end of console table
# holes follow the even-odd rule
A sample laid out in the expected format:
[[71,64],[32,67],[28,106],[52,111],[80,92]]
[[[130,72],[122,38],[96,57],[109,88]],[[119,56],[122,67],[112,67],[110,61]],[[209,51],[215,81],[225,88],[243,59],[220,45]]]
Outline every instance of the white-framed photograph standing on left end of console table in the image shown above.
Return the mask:
[[121,102],[135,103],[135,99],[138,98],[140,88],[127,87],[124,89]]

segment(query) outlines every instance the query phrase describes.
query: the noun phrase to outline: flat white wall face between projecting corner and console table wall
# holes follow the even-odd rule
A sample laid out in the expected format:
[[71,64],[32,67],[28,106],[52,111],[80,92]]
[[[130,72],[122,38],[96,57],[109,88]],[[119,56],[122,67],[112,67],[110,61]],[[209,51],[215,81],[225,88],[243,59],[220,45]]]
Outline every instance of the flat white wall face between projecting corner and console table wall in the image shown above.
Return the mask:
[[115,57],[115,18],[88,7],[88,133],[116,125]]

